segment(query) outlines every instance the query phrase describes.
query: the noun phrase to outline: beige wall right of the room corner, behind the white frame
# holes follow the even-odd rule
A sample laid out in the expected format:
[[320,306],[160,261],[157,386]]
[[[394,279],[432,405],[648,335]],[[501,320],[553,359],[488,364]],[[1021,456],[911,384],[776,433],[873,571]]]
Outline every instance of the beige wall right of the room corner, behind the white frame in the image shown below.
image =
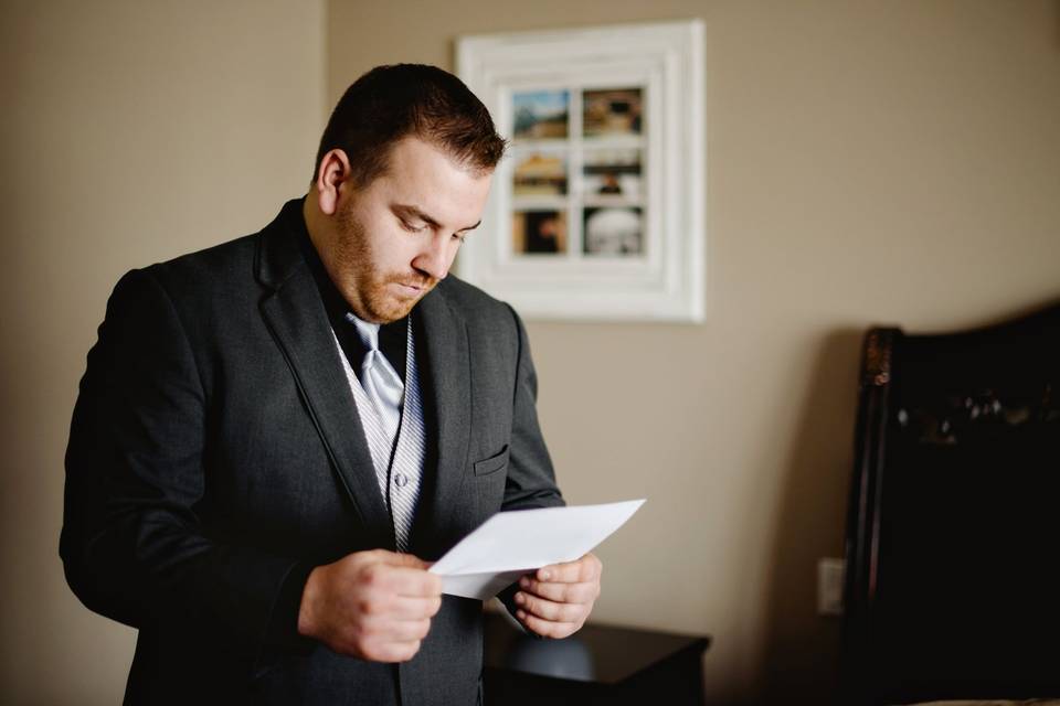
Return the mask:
[[[708,692],[809,703],[838,623],[860,332],[1060,296],[1057,2],[332,1],[328,98],[460,34],[706,22],[708,320],[531,323],[570,500],[647,496],[600,620],[713,634]],[[477,234],[480,237],[485,234]]]

